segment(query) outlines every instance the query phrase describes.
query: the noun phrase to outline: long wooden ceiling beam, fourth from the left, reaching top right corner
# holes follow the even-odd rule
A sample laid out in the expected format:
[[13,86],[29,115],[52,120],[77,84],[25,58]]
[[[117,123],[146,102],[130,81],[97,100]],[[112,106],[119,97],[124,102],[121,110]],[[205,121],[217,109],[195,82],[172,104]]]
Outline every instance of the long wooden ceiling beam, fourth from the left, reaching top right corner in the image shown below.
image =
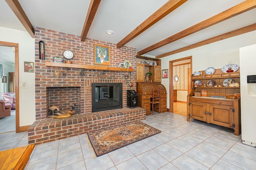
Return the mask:
[[254,8],[256,8],[256,0],[246,0],[232,8],[229,8],[228,10],[225,10],[211,18],[208,18],[200,23],[197,23],[196,25],[193,25],[187,29],[184,29],[183,31],[176,33],[176,34],[174,34],[174,35],[172,35],[154,45],[151,45],[150,47],[147,47],[146,49],[143,49],[143,50],[137,52],[136,55],[145,54],[149,51],[152,51],[152,50],[162,47],[166,44],[174,42],[178,39],[181,39],[183,37],[191,35],[192,33],[196,33],[202,29],[205,29],[207,27],[210,27],[212,25],[220,23],[224,20],[228,20],[229,18],[232,18],[234,16],[237,16],[239,14],[242,14],[242,13],[252,10]]

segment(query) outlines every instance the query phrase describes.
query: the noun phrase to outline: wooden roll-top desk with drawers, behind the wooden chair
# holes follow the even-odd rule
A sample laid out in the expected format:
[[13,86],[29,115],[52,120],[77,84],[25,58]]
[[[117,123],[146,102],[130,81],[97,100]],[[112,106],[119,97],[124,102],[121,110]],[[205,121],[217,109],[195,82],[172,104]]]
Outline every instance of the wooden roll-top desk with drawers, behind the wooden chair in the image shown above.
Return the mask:
[[153,89],[160,89],[160,111],[155,108],[158,113],[166,112],[167,94],[165,87],[160,83],[137,82],[138,106],[146,109],[146,115],[150,115],[150,98],[152,97]]

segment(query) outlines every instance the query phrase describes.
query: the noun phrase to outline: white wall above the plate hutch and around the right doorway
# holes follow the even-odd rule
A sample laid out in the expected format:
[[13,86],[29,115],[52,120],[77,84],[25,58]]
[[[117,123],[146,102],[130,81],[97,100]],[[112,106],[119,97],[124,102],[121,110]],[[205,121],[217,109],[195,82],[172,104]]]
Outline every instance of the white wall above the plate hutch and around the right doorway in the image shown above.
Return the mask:
[[[169,61],[192,56],[191,72],[206,70],[208,67],[222,68],[232,61],[239,66],[239,48],[256,43],[256,31],[251,31],[236,37],[224,39],[215,43],[197,47],[188,51],[161,58],[162,69],[169,68]],[[162,79],[162,84],[170,94],[169,78]],[[167,108],[170,108],[169,95],[167,95]]]

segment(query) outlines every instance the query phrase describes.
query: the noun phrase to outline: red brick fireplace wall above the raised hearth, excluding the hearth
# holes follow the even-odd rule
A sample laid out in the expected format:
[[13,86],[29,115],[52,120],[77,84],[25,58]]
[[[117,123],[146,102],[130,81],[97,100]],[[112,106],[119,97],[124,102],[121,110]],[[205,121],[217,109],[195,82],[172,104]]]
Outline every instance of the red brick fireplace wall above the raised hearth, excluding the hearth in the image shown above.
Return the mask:
[[[45,60],[39,59],[38,42],[41,40],[44,41]],[[110,47],[110,67],[117,67],[124,60],[129,60],[132,67],[136,69],[136,49],[132,47],[125,46],[117,49],[116,44],[94,39],[86,39],[83,42],[80,41],[80,36],[40,27],[35,28],[36,120],[47,118],[48,108],[53,105],[61,109],[70,109],[73,102],[78,104],[79,113],[91,113],[92,83],[122,83],[122,104],[123,108],[126,107],[126,90],[136,90],[136,86],[132,88],[128,86],[129,82],[134,82],[136,85],[136,70],[135,72],[84,70],[84,76],[80,76],[81,69],[79,68],[45,66],[45,62],[52,62],[53,57],[63,58],[63,51],[67,49],[74,53],[74,58],[71,60],[73,64],[94,65],[94,44]],[[55,71],[60,72],[58,77]],[[125,75],[128,75],[127,81],[124,78]],[[72,98],[70,92],[67,91],[70,88],[77,91],[76,99]],[[56,96],[49,96],[49,92],[54,89],[57,90]]]

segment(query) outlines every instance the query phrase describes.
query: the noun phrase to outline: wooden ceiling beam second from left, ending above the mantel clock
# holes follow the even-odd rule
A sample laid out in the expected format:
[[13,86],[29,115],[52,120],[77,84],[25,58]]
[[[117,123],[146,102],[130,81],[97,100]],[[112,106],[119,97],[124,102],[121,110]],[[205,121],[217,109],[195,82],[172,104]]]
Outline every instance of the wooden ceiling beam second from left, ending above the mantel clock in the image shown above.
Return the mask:
[[84,27],[81,33],[81,41],[85,41],[86,36],[89,32],[89,29],[92,25],[92,21],[94,19],[94,16],[98,10],[98,7],[100,5],[100,0],[91,0],[90,5],[86,14],[86,19],[84,21]]

